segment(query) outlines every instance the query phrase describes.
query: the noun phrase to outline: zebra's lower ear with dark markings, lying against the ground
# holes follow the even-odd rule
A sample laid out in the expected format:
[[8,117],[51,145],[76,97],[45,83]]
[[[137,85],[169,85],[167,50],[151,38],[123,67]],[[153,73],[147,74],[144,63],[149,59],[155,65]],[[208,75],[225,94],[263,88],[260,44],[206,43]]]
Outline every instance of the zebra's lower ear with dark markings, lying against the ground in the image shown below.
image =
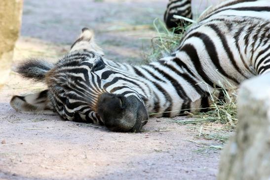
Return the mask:
[[26,96],[13,96],[10,106],[19,112],[55,114],[48,98],[48,90]]

